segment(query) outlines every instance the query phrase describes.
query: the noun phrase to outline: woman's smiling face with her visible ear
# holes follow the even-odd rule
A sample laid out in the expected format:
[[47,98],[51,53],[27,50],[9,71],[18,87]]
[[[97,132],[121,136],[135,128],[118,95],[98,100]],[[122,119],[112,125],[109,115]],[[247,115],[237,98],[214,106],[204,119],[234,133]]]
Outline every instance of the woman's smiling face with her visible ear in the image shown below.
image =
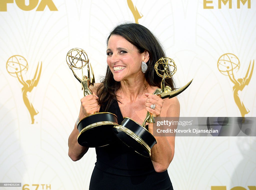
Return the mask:
[[145,60],[145,52],[139,53],[138,49],[122,36],[110,36],[106,53],[107,63],[115,81],[143,76],[141,62]]

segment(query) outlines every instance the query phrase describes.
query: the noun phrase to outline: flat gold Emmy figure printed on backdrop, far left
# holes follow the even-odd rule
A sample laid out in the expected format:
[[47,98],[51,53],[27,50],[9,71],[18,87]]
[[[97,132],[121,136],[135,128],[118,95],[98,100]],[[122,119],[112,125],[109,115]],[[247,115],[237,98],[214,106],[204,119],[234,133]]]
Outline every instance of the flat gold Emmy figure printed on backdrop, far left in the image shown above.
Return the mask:
[[34,124],[34,121],[35,121],[34,116],[38,114],[38,111],[35,110],[34,106],[29,101],[27,92],[31,92],[33,90],[33,88],[36,87],[38,84],[38,81],[39,81],[39,78],[41,75],[41,70],[42,70],[42,62],[41,62],[39,72],[38,72],[38,67],[39,67],[39,62],[37,64],[34,78],[32,80],[25,81],[23,76],[28,70],[27,60],[21,55],[14,55],[14,56],[10,57],[8,59],[8,61],[6,62],[7,72],[11,76],[17,77],[20,84],[23,85],[22,96],[23,96],[24,103],[30,113],[30,116],[31,116],[31,121],[32,121],[31,124]]

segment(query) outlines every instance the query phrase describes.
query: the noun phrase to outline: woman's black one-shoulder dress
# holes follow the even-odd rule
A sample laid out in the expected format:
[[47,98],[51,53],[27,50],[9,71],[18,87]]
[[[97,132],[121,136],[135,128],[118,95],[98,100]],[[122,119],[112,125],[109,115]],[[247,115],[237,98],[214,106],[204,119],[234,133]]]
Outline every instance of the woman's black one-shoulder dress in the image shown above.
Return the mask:
[[[102,112],[102,106],[100,112]],[[123,116],[116,100],[108,112],[121,124]],[[150,158],[129,149],[118,138],[110,145],[95,148],[97,161],[92,172],[90,190],[95,189],[173,189],[167,170],[157,173]]]

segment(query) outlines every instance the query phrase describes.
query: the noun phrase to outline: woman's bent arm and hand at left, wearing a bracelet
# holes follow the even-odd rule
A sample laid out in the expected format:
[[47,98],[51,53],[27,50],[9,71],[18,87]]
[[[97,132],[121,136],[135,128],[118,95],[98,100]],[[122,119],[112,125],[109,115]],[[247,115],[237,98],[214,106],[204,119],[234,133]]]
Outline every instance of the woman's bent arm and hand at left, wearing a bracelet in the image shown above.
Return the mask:
[[[81,99],[81,107],[79,112],[80,120],[88,115],[93,114],[96,111],[99,111],[100,107],[98,105],[96,96],[96,91],[99,84],[95,84],[94,87],[91,88],[93,95],[87,95]],[[68,156],[73,160],[80,160],[83,155],[88,151],[88,147],[83,147],[78,144],[77,136],[79,135],[79,131],[77,129],[77,125],[75,124],[74,129],[72,130],[69,138],[68,138]]]

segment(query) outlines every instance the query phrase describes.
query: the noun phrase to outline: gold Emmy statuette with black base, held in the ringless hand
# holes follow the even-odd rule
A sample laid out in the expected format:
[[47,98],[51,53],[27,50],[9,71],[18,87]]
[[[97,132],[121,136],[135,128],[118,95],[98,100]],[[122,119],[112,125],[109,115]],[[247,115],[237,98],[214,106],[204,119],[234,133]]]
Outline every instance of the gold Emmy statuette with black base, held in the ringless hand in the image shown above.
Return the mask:
[[[94,85],[95,80],[92,66],[89,63],[86,52],[80,48],[74,48],[68,52],[66,61],[76,79],[81,83],[83,95],[87,96],[92,94],[89,87]],[[83,69],[86,65],[87,76],[83,73]],[[81,79],[74,70],[81,70]],[[77,141],[81,146],[85,147],[106,146],[117,139],[112,131],[114,125],[118,125],[117,117],[109,112],[96,112],[84,117],[77,125],[79,131]]]

